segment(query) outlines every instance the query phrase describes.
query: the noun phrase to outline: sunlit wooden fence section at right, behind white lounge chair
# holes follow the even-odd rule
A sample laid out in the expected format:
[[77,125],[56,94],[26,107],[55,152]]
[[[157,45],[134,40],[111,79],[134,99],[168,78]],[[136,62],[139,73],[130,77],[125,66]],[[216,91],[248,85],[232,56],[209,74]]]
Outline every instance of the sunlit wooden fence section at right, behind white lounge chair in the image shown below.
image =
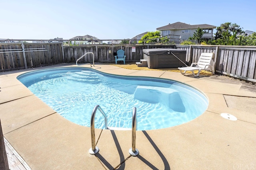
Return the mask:
[[215,72],[256,82],[255,46],[176,45],[176,48],[187,51],[186,61],[190,64],[198,61],[201,53],[214,53]]

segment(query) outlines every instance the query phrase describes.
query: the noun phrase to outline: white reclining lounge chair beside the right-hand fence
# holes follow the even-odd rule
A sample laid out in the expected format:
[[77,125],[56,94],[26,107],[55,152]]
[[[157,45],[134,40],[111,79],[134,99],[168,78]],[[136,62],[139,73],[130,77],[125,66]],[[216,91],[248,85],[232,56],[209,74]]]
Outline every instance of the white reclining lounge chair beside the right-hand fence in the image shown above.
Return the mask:
[[[198,63],[192,63],[191,66],[179,67],[178,69],[180,70],[181,74],[185,74],[186,71],[192,71],[195,77],[199,76],[201,70],[206,70],[206,71],[211,70],[213,73],[212,65],[210,64],[210,62],[212,61],[213,55],[214,53],[202,53],[199,57]],[[196,66],[193,66],[194,64],[196,64]],[[197,74],[194,73],[194,71],[196,70],[198,70]]]

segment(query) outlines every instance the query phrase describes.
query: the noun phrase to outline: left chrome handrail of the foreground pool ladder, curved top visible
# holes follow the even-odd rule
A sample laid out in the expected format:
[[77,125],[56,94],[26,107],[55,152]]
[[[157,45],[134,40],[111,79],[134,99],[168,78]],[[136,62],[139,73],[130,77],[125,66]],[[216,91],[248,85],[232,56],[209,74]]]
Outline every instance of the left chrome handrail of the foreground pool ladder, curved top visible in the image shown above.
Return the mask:
[[92,111],[92,116],[91,116],[91,140],[92,140],[92,148],[89,149],[89,153],[90,154],[96,154],[99,152],[99,148],[96,147],[96,143],[95,143],[95,128],[94,128],[94,118],[95,118],[95,114],[97,109],[100,110],[100,113],[102,113],[102,115],[104,116],[105,119],[105,129],[108,129],[108,118],[106,116],[106,113],[102,110],[102,108],[99,105],[96,105]]

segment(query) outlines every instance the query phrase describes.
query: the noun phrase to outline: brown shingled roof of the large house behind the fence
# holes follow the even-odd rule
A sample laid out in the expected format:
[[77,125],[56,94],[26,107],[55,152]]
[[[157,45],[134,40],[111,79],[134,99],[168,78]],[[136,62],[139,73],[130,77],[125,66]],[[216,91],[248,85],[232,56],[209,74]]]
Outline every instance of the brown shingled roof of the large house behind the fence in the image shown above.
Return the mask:
[[170,30],[170,29],[196,29],[196,28],[216,28],[214,25],[208,24],[198,24],[198,25],[190,25],[182,22],[169,23],[163,27],[159,27],[156,30]]

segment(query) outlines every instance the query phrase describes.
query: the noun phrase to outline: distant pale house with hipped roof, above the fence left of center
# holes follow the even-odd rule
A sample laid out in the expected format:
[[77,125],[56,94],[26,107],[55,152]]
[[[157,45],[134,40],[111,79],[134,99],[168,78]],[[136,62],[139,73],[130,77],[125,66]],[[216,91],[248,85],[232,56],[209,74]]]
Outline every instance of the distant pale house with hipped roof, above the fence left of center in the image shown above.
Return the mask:
[[91,35],[76,36],[70,39],[72,45],[92,45],[102,44],[102,41]]

